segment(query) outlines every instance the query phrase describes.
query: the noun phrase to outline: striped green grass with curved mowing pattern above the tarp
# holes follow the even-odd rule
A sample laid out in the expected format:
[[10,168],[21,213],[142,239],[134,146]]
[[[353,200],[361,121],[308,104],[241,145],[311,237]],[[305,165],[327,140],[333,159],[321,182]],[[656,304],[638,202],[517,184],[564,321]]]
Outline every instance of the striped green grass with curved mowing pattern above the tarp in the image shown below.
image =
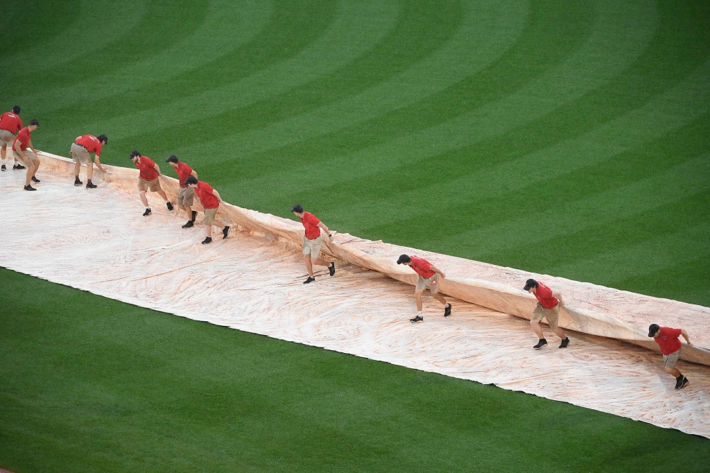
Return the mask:
[[16,8],[4,107],[46,151],[104,132],[246,207],[710,304],[706,2]]

